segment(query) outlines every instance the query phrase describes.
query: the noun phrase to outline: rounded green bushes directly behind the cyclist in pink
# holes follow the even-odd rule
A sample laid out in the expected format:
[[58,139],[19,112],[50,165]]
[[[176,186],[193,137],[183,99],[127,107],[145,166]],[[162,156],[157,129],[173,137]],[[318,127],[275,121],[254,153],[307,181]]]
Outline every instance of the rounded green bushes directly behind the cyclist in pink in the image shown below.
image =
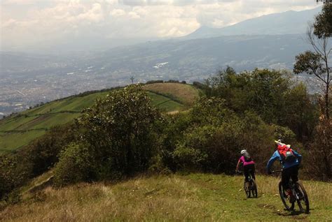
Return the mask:
[[253,112],[238,115],[220,98],[201,98],[188,113],[187,128],[172,151],[177,169],[233,172],[241,149],[248,149],[263,172],[273,147],[273,129]]

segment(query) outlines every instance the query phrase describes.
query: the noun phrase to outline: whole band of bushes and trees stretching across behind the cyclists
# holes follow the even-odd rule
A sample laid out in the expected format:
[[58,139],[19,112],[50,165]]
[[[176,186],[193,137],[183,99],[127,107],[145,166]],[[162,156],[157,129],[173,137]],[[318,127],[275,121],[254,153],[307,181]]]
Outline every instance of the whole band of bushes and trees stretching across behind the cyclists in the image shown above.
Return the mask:
[[316,170],[331,178],[331,121],[317,125],[317,104],[287,73],[239,74],[227,68],[195,85],[206,96],[191,110],[172,115],[153,108],[139,85],[110,91],[74,124],[53,128],[18,153],[1,156],[1,198],[50,168],[57,186],[146,170],[232,173],[241,149],[265,172],[279,138],[309,156],[315,167],[305,167],[308,175],[321,179]]

